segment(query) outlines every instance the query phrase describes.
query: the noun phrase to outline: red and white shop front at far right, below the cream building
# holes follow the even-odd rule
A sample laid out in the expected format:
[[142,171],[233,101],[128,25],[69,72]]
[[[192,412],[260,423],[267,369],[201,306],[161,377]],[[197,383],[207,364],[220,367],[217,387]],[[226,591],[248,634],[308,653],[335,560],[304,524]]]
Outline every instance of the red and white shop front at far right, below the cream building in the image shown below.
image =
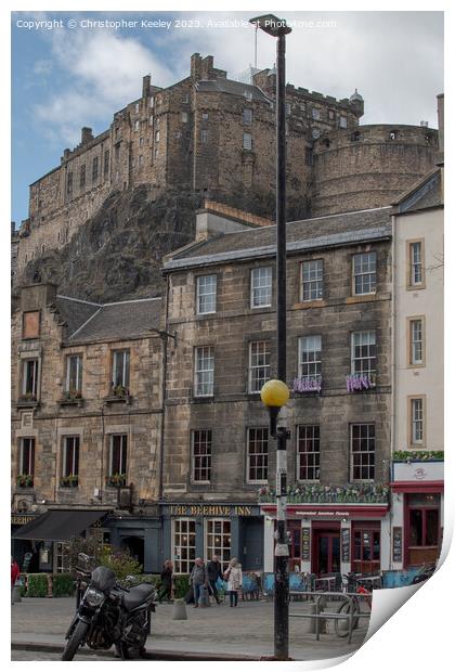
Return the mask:
[[392,463],[392,568],[438,560],[443,532],[444,463],[408,460]]

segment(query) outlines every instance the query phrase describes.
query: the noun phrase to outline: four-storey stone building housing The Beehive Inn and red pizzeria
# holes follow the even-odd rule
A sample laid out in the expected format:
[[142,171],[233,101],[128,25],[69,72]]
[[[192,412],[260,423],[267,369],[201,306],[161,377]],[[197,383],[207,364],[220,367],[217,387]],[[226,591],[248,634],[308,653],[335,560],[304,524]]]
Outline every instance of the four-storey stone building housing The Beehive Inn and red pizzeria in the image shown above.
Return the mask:
[[[389,566],[390,210],[287,224],[292,570]],[[164,266],[177,348],[161,512],[177,571],[214,537],[224,561],[273,570],[275,450],[259,392],[276,376],[275,227],[231,231],[209,219]]]

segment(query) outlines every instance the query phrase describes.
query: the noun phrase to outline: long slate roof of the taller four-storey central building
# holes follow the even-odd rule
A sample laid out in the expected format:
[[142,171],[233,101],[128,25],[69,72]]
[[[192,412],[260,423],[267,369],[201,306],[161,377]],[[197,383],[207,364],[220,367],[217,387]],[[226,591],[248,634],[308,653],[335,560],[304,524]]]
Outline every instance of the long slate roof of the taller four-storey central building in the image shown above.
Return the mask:
[[[391,235],[390,207],[304,219],[286,224],[288,253],[378,240]],[[178,251],[165,270],[275,254],[275,225],[248,229]]]

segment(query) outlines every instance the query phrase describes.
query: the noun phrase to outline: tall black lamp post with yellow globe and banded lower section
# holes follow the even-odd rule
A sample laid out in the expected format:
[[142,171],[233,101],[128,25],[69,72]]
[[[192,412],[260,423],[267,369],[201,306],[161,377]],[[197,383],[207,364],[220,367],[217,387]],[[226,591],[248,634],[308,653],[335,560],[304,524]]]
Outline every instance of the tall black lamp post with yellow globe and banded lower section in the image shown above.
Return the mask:
[[[262,401],[270,409],[271,434],[276,438],[276,544],[275,544],[275,598],[274,646],[275,658],[288,659],[289,646],[289,550],[286,537],[286,489],[288,431],[276,427],[280,409],[286,403],[289,390],[286,386],[286,35],[291,29],[286,21],[273,14],[251,18],[250,23],[277,38],[276,42],[276,336],[277,378],[265,384]],[[287,397],[280,382],[285,385]],[[265,387],[271,395],[268,396]],[[275,395],[277,393],[277,396]],[[275,397],[275,401],[274,401]],[[286,398],[285,398],[286,397]]]

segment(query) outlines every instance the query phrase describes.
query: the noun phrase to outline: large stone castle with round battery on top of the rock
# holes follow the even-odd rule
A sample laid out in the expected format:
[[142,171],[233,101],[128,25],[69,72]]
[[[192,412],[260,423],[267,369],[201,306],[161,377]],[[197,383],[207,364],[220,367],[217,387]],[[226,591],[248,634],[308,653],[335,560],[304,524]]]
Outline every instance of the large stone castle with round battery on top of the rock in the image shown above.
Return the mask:
[[[227,79],[213,57],[191,57],[190,76],[166,89],[143,78],[142,95],[110,127],[65,150],[61,165],[30,185],[21,229],[18,273],[60,248],[114,191],[147,184],[216,197],[275,185],[276,74]],[[325,215],[388,205],[434,164],[437,131],[360,127],[363,99],[336,100],[287,85],[288,198]]]

